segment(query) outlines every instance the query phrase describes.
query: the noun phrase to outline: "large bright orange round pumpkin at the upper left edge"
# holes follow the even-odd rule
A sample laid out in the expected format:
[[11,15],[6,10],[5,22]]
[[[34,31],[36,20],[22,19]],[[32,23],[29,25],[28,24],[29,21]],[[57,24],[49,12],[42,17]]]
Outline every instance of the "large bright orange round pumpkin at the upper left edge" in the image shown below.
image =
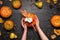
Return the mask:
[[12,15],[12,10],[10,7],[8,6],[3,6],[1,8],[1,16],[4,17],[4,18],[8,18]]

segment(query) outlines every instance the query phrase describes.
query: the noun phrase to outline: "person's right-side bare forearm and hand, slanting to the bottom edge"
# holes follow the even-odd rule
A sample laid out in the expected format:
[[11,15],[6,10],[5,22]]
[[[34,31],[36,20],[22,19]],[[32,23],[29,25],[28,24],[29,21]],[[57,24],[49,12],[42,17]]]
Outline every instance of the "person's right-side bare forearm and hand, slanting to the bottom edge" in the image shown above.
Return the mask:
[[37,29],[37,31],[39,33],[39,36],[41,37],[42,40],[49,40],[47,38],[47,36],[44,34],[44,32],[42,31],[42,29],[40,28],[40,26],[39,26],[39,19],[38,19],[37,16],[36,16],[36,29]]

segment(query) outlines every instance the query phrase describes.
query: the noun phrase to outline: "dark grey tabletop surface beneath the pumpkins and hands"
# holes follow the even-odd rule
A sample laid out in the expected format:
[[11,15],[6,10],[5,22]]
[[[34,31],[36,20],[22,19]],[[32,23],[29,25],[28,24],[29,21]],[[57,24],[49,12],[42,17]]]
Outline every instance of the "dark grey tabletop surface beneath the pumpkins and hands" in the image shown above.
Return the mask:
[[[21,27],[21,18],[23,17],[20,10],[27,10],[27,12],[32,12],[34,14],[36,14],[40,20],[40,26],[41,29],[43,30],[43,32],[47,35],[47,37],[51,40],[50,36],[53,33],[53,26],[50,23],[50,19],[53,15],[60,15],[60,0],[58,0],[57,5],[54,5],[51,1],[50,4],[53,4],[53,8],[50,9],[48,3],[46,3],[46,0],[42,0],[43,1],[43,8],[39,9],[37,8],[33,2],[35,0],[21,0],[22,2],[22,6],[20,9],[14,9],[12,7],[12,3],[9,2],[9,0],[2,0],[3,1],[3,5],[0,5],[0,8],[2,6],[9,6],[11,7],[13,14],[10,18],[14,23],[14,29],[11,31],[6,31],[3,28],[3,24],[0,24],[0,31],[2,32],[2,36],[0,36],[0,40],[11,40],[9,38],[9,34],[11,32],[14,32],[18,38],[14,39],[14,40],[21,40],[21,36],[23,34],[23,28]],[[1,16],[0,16],[1,17]],[[4,18],[3,18],[4,19]],[[8,20],[8,19],[4,19]],[[37,32],[34,32],[33,28],[28,28],[28,33],[27,33],[27,40],[40,40],[39,34]],[[55,40],[60,40],[60,36],[57,36]]]

